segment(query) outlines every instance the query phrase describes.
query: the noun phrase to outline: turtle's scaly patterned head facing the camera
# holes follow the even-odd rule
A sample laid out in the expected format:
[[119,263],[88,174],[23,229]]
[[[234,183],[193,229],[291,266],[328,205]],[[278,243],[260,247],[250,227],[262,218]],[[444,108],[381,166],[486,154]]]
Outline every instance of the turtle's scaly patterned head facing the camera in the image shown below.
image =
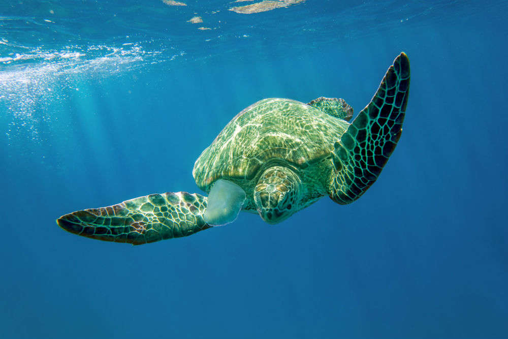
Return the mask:
[[287,167],[267,169],[254,189],[254,202],[261,218],[269,224],[277,224],[295,213],[301,180]]

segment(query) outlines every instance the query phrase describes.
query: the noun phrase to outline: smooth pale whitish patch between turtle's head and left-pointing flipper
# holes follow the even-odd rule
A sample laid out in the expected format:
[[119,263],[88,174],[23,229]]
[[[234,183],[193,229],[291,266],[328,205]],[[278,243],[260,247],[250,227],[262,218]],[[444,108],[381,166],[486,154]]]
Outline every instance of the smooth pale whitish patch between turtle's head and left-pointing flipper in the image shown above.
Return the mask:
[[229,180],[217,180],[208,195],[208,205],[203,215],[210,226],[229,224],[238,217],[245,201],[245,191]]

